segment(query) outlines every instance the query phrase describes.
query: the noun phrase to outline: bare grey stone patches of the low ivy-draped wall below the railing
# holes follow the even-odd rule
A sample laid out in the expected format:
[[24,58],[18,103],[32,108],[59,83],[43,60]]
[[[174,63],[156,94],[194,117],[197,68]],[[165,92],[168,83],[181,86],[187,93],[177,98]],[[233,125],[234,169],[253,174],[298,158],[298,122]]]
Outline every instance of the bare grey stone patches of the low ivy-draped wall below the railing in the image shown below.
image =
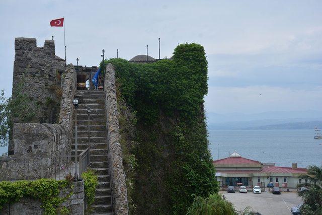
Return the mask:
[[[69,210],[69,214],[84,214],[84,182],[73,182],[73,186],[72,190],[65,188],[60,191],[59,197],[65,197],[72,192],[72,195],[62,203],[61,207],[65,206]],[[44,209],[40,207],[41,205],[42,202],[39,199],[23,197],[18,202],[5,205],[0,214],[44,214]],[[60,214],[59,211],[58,214]]]

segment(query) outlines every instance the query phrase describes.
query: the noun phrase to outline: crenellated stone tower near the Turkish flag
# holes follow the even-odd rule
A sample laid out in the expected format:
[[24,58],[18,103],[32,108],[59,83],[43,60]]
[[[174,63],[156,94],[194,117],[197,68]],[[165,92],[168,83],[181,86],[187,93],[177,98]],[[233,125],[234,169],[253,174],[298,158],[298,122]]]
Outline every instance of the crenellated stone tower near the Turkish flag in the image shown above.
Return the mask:
[[[30,98],[36,111],[33,122],[57,123],[64,60],[55,55],[54,40],[45,40],[43,47],[37,47],[35,38],[19,37],[15,39],[15,51],[12,99],[21,91]],[[15,122],[21,119],[15,118]],[[14,154],[14,148],[10,141],[9,155]]]

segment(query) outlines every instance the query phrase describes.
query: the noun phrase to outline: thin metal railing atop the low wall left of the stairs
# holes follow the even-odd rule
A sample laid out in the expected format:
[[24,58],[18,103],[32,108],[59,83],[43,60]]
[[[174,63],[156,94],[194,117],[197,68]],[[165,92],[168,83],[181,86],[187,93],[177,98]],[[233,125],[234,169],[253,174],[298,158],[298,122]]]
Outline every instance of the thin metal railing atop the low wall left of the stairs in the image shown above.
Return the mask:
[[89,166],[89,149],[78,156],[75,166],[74,156],[45,157],[6,157],[0,159],[0,181],[36,180],[53,178],[64,180],[72,178],[77,168],[81,175]]

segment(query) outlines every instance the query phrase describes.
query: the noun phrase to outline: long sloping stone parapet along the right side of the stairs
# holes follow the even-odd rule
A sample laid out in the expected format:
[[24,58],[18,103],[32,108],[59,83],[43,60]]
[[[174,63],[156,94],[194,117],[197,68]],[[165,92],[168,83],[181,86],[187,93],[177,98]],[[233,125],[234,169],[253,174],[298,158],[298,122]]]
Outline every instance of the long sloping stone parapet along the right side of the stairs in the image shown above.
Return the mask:
[[129,208],[127,200],[126,176],[123,167],[123,154],[120,144],[118,121],[119,113],[117,111],[115,89],[115,71],[111,63],[106,66],[104,85],[113,210],[116,214],[128,214]]

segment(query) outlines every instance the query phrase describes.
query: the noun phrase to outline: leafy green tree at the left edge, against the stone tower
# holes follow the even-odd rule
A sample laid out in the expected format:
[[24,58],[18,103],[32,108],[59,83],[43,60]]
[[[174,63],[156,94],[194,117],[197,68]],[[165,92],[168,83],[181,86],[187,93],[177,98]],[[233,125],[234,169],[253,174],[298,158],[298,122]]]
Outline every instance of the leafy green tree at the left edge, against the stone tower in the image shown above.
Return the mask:
[[0,147],[8,146],[14,123],[31,122],[36,115],[23,83],[17,84],[13,97],[6,98],[4,90],[0,93]]

